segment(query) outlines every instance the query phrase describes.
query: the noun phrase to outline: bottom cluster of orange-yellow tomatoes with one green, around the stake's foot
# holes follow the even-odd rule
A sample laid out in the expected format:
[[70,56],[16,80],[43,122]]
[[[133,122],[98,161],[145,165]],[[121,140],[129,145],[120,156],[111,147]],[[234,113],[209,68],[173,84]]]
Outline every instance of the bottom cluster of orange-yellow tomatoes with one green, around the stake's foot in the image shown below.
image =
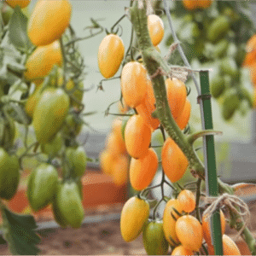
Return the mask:
[[[210,218],[203,216],[200,222],[192,215],[194,210],[195,195],[187,189],[182,190],[177,199],[166,203],[162,219],[148,218],[148,202],[137,196],[131,197],[121,212],[121,235],[125,241],[133,241],[143,233],[143,245],[148,255],[166,255],[169,245],[172,255],[194,255],[200,251],[203,239],[209,254],[213,255]],[[225,218],[221,210],[220,216],[224,255],[241,255],[236,243],[224,235]]]

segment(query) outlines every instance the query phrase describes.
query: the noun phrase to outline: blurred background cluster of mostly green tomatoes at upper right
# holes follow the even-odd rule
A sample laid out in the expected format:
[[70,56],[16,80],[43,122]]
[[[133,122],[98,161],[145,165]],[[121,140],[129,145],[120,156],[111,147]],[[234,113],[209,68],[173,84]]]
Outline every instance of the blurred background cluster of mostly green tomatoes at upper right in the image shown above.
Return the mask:
[[[237,112],[247,113],[253,107],[253,98],[243,86],[242,73],[245,44],[253,35],[253,21],[240,8],[239,3],[211,0],[175,1],[172,8],[172,14],[180,20],[177,37],[183,38],[189,61],[197,59],[207,67],[216,66],[210,73],[210,89],[221,105],[224,120],[230,120]],[[184,29],[189,31],[186,37],[182,34]],[[171,42],[172,36],[166,45]],[[179,61],[177,57],[177,64]]]

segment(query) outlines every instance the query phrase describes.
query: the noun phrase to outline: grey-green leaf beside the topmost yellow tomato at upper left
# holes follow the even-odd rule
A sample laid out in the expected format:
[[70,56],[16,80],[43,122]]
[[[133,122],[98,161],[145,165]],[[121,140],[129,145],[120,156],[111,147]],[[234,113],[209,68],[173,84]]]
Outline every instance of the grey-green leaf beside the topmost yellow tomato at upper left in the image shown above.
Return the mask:
[[9,21],[9,40],[16,48],[27,51],[32,47],[32,43],[26,34],[27,17],[20,7],[15,7],[15,12]]

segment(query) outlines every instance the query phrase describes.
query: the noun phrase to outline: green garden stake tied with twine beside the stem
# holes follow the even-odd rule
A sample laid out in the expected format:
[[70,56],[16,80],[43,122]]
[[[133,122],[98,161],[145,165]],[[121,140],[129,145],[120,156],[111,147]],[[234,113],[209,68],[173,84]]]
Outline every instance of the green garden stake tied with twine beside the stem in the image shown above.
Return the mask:
[[[201,117],[203,130],[212,130],[212,105],[211,94],[209,89],[209,72],[200,72],[201,96],[198,96],[198,102],[201,101]],[[207,195],[211,197],[218,196],[218,182],[215,160],[215,148],[213,135],[203,137],[204,143],[204,160],[206,167],[206,185]],[[223,255],[222,232],[220,223],[219,209],[212,213],[211,217],[211,234],[212,245],[214,246],[215,255]]]

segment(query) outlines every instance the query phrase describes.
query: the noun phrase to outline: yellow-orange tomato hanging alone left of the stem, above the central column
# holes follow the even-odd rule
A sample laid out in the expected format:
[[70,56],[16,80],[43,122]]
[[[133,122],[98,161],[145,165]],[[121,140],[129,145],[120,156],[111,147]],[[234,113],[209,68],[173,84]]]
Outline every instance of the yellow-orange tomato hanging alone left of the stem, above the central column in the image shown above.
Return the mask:
[[98,66],[105,79],[118,72],[125,55],[125,46],[119,36],[109,34],[103,38],[98,51]]

